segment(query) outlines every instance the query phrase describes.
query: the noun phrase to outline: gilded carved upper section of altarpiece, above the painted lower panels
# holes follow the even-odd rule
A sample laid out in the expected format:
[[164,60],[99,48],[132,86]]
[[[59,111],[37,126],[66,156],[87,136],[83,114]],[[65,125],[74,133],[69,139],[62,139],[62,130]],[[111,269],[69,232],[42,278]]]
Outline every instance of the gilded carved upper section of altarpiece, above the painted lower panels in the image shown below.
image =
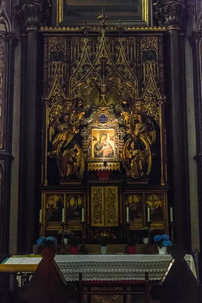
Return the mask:
[[48,37],[44,44],[51,85],[47,161],[56,159],[62,178],[81,178],[84,161],[88,171],[117,170],[122,161],[129,178],[147,178],[160,154],[159,36],[112,38],[102,32],[68,43]]

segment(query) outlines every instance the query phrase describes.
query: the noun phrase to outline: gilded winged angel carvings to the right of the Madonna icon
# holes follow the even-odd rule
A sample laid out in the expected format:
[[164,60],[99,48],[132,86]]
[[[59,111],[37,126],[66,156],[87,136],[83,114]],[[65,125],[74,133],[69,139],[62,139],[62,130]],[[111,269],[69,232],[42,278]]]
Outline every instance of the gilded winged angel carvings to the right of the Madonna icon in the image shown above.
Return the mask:
[[150,173],[156,131],[151,119],[143,122],[143,116],[138,114],[134,122],[133,115],[130,117],[130,133],[123,149],[123,165],[130,177],[138,179]]

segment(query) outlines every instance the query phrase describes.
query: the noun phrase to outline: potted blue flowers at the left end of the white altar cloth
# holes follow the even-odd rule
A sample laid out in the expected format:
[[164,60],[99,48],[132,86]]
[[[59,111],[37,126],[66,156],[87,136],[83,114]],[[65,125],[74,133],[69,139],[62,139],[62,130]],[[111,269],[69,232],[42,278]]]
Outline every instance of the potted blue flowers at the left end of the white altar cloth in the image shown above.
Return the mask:
[[56,255],[58,241],[55,237],[40,237],[36,244],[39,246],[41,257],[45,260],[53,259]]

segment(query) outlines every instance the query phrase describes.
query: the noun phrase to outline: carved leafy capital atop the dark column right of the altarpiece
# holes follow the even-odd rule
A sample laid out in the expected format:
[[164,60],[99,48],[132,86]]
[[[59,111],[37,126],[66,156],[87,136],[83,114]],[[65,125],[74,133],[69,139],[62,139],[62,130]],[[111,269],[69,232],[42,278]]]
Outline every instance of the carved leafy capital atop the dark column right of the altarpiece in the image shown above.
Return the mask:
[[165,26],[167,29],[184,28],[185,5],[179,2],[165,3],[160,8],[156,8],[155,17],[159,26]]

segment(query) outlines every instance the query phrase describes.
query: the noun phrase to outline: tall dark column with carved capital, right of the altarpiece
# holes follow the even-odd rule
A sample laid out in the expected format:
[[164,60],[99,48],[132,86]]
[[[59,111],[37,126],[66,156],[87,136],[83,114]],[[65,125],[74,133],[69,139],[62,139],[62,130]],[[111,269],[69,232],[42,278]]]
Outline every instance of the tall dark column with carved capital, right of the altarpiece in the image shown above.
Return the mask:
[[161,0],[155,16],[159,25],[166,26],[165,93],[167,95],[166,128],[168,146],[169,205],[174,208],[174,239],[191,250],[190,205],[188,180],[188,149],[186,124],[185,64],[183,21],[186,20],[183,0]]

